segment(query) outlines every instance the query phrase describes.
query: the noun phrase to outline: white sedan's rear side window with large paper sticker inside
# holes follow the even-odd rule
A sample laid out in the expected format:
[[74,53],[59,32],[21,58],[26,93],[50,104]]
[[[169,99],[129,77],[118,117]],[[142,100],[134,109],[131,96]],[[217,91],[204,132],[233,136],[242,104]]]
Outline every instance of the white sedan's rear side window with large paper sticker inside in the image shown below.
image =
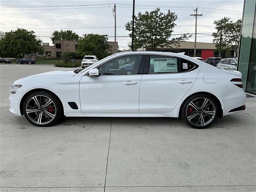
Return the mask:
[[150,56],[149,74],[186,72],[195,67],[195,64],[176,57]]

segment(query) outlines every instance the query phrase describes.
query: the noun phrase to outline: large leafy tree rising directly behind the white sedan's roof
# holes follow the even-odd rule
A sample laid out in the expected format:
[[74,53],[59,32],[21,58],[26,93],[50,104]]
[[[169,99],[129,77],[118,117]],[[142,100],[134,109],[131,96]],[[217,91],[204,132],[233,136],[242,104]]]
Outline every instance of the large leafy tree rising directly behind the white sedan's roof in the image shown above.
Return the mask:
[[[177,19],[175,13],[168,10],[167,14],[160,12],[160,8],[145,14],[138,13],[134,16],[134,49],[146,48],[148,51],[154,51],[158,46],[170,46],[176,44],[177,41],[184,41],[190,37],[184,34],[179,38],[168,40],[173,32]],[[126,30],[132,31],[132,21],[126,23]],[[129,34],[132,37],[132,33]]]

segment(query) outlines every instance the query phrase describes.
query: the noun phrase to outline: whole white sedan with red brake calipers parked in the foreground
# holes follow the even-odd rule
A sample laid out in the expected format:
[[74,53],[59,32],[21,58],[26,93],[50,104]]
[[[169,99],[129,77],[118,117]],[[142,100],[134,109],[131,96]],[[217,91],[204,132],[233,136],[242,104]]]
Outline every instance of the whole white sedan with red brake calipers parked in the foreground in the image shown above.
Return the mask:
[[[122,68],[131,60],[132,68]],[[10,86],[10,112],[36,126],[67,117],[179,117],[206,128],[243,111],[240,72],[175,53],[124,52],[82,70],[58,70]]]

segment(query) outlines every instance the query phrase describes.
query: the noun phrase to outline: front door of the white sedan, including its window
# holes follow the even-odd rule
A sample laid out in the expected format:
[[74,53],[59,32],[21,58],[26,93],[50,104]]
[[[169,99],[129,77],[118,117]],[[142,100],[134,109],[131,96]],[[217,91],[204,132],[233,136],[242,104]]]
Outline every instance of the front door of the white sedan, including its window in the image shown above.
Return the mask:
[[97,67],[100,76],[80,80],[84,113],[138,113],[142,55],[115,58]]

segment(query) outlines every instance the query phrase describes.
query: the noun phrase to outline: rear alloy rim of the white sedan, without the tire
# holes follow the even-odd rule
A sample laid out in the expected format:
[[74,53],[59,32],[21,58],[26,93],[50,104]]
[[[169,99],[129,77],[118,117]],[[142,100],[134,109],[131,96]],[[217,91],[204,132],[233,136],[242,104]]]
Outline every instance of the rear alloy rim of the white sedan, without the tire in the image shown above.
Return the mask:
[[208,98],[196,98],[186,108],[186,116],[195,126],[206,126],[216,116],[216,108]]

